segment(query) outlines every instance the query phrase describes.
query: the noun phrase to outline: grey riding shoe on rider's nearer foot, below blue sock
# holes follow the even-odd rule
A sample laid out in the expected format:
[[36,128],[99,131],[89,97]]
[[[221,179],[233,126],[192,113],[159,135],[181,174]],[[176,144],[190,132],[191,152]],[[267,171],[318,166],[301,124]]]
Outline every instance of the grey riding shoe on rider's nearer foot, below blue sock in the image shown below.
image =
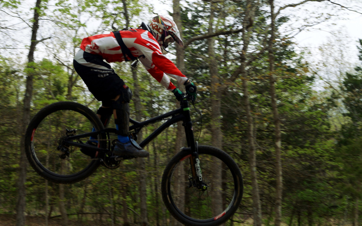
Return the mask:
[[150,154],[143,150],[134,139],[127,143],[116,141],[113,154],[117,156],[148,157]]

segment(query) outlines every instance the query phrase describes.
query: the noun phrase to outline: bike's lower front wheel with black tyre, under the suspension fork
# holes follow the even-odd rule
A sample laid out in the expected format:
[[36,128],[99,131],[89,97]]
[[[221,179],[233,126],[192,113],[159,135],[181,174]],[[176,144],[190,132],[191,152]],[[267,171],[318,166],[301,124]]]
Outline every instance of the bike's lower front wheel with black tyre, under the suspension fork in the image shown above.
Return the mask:
[[185,149],[176,154],[164,170],[162,198],[172,216],[185,225],[220,225],[240,205],[243,178],[226,152],[211,146],[198,146],[198,152],[206,191],[193,186],[191,150]]

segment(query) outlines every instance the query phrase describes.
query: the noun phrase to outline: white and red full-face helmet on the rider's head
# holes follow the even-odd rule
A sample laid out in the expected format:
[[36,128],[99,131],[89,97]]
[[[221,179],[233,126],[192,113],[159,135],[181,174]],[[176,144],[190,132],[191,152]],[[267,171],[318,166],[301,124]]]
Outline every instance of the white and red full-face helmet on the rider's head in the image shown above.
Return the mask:
[[150,23],[148,23],[148,26],[150,26],[151,30],[153,31],[152,33],[154,33],[153,36],[163,48],[163,50],[167,48],[168,44],[174,41],[176,41],[176,43],[179,45],[184,46],[176,23],[171,18],[163,15],[157,15],[151,19]]

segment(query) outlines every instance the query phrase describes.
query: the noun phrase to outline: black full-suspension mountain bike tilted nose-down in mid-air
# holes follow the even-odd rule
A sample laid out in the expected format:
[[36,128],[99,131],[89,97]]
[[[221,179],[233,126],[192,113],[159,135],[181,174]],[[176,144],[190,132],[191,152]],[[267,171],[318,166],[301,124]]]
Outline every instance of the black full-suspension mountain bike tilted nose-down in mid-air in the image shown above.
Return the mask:
[[[163,130],[182,121],[188,147],[184,147],[164,169],[161,192],[168,211],[185,225],[214,226],[227,221],[237,210],[243,195],[243,178],[226,152],[195,141],[189,103],[185,94],[180,108],[142,122],[130,119],[130,137],[136,140],[145,126],[162,121],[139,145],[143,148]],[[196,109],[196,108],[195,108]],[[115,128],[104,128],[97,115],[75,102],[57,102],[42,108],[30,121],[25,134],[26,156],[33,169],[56,183],[75,183],[92,174],[99,165],[115,169],[133,157],[112,153]],[[87,144],[97,137],[98,145]],[[90,158],[80,151],[96,153]]]

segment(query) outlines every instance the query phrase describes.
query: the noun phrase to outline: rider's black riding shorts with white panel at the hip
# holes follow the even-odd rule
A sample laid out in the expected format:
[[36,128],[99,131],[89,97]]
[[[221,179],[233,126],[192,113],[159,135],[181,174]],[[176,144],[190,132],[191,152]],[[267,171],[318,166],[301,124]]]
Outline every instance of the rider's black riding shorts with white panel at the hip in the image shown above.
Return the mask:
[[106,70],[88,67],[73,60],[75,71],[98,101],[110,102],[111,99],[122,94],[123,85],[125,85],[124,81],[115,74],[108,63],[103,61],[102,56],[84,52],[83,58],[86,62],[109,68]]

